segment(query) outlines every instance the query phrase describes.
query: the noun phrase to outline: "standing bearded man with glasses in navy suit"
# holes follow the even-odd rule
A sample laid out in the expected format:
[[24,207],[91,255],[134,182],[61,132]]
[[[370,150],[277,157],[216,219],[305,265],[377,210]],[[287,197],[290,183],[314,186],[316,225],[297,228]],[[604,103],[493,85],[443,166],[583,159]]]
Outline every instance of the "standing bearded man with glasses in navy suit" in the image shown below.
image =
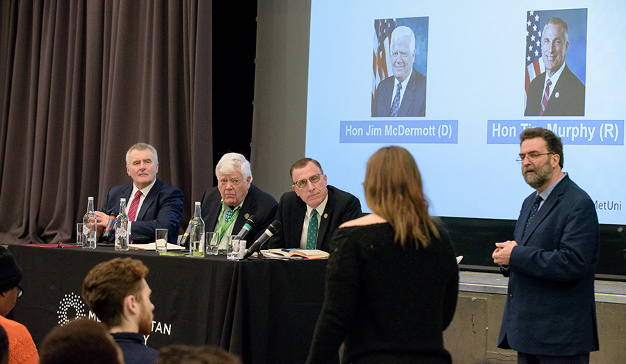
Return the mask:
[[561,138],[533,128],[520,140],[517,161],[536,192],[522,204],[515,241],[497,242],[492,254],[508,276],[498,347],[516,350],[517,363],[589,363],[589,353],[599,349],[595,206],[561,172]]

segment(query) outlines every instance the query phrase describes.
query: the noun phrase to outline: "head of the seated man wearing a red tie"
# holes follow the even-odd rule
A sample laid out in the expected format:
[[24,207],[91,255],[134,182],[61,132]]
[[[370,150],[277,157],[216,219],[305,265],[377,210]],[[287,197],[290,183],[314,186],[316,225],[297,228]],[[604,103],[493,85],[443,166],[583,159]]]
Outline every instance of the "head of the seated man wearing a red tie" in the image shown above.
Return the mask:
[[157,149],[147,143],[134,144],[126,152],[126,172],[137,188],[146,188],[159,172]]

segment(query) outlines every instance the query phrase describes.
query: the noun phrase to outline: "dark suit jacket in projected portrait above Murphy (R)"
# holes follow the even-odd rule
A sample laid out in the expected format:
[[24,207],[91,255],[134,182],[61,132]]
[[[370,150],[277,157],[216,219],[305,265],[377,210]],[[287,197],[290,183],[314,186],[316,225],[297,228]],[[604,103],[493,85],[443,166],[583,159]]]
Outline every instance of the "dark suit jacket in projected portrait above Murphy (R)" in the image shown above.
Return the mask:
[[[524,116],[539,116],[544,83],[545,72],[533,78],[528,88]],[[543,116],[585,116],[585,85],[567,64],[552,90]]]

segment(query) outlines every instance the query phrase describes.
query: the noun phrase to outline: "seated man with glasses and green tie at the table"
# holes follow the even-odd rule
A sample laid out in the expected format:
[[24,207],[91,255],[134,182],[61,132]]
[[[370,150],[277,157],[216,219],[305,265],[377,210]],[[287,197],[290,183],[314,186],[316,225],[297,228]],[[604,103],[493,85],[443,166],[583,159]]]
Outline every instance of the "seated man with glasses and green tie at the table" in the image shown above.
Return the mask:
[[330,252],[330,238],[339,225],[361,217],[359,199],[327,185],[326,174],[317,160],[302,158],[289,171],[293,191],[278,203],[276,220],[282,229],[269,242],[271,249],[321,249]]

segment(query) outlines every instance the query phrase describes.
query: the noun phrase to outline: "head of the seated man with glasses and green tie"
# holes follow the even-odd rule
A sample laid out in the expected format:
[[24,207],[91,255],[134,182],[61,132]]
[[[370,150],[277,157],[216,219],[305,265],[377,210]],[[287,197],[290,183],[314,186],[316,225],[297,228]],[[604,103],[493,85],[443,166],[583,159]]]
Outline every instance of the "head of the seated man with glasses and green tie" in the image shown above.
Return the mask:
[[291,188],[311,208],[317,208],[328,196],[326,174],[317,160],[302,158],[291,166],[289,174]]

